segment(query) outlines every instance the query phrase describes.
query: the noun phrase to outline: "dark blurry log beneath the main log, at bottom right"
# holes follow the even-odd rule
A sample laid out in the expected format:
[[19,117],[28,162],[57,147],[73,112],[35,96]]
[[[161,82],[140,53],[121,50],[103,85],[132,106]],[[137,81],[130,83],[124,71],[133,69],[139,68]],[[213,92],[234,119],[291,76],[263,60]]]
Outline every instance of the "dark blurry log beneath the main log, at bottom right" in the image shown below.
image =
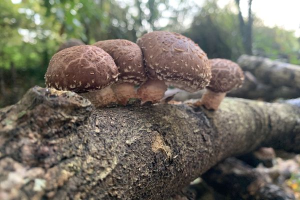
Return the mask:
[[230,199],[295,199],[291,190],[275,183],[272,175],[279,173],[275,170],[253,168],[230,157],[209,169],[202,178]]

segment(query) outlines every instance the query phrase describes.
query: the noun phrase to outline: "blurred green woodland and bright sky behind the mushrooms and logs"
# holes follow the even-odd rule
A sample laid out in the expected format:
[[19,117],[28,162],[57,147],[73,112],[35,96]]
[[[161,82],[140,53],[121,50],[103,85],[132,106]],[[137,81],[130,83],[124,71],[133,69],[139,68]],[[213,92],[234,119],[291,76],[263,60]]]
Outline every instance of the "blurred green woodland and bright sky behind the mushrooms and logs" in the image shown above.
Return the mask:
[[44,85],[68,39],[136,41],[153,30],[193,39],[209,58],[253,54],[300,64],[298,0],[1,0],[0,107]]

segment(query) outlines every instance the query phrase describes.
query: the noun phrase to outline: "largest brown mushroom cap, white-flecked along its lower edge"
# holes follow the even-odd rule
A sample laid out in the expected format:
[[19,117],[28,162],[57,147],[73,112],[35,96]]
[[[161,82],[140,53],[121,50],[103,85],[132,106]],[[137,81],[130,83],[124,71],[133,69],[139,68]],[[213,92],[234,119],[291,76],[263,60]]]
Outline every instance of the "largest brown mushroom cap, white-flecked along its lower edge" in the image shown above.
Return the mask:
[[137,39],[149,78],[193,92],[210,80],[205,52],[190,38],[178,33],[153,31]]

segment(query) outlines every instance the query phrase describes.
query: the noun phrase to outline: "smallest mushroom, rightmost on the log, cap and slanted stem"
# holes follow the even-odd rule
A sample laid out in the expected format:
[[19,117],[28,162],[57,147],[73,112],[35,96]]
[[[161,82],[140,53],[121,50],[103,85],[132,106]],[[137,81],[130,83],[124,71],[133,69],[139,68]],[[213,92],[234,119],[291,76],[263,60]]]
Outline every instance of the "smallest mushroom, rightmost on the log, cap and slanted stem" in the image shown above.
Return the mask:
[[209,62],[212,75],[210,83],[201,99],[193,104],[216,110],[226,92],[242,85],[244,75],[239,65],[231,60],[214,58],[209,59]]

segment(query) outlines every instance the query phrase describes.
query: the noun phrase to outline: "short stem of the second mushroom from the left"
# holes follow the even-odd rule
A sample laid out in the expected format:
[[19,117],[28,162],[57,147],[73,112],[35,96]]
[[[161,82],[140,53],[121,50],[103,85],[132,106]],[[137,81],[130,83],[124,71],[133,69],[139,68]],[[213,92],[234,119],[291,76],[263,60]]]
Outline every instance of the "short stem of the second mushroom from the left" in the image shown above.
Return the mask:
[[134,88],[134,83],[122,82],[116,83],[111,86],[113,93],[115,94],[117,103],[126,105],[129,98],[136,98],[137,93]]

